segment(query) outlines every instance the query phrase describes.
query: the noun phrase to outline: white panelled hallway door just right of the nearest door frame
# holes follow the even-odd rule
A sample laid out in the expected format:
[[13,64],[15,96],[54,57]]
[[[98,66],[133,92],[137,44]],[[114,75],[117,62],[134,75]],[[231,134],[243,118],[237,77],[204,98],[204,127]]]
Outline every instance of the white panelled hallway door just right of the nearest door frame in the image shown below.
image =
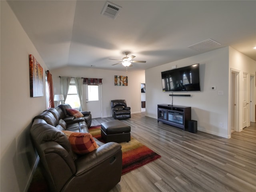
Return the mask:
[[243,128],[247,126],[248,120],[248,78],[243,74]]

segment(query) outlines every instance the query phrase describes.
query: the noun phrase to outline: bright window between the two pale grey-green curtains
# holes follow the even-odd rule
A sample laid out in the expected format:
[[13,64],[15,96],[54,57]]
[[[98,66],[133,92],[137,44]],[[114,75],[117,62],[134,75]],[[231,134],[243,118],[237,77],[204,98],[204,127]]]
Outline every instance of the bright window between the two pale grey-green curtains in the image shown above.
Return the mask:
[[75,78],[71,78],[71,80],[70,80],[70,84],[69,84],[69,88],[68,88],[68,95],[67,95],[65,103],[70,104],[70,106],[72,108],[76,108],[76,109],[80,108],[80,100],[77,95]]

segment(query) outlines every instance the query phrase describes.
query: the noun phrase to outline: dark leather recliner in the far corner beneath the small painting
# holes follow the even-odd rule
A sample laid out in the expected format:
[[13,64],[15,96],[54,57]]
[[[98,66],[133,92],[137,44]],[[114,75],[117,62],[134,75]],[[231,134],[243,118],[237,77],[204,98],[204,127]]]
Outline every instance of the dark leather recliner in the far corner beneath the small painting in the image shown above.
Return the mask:
[[127,107],[126,100],[111,100],[111,108],[114,119],[131,118],[131,108]]

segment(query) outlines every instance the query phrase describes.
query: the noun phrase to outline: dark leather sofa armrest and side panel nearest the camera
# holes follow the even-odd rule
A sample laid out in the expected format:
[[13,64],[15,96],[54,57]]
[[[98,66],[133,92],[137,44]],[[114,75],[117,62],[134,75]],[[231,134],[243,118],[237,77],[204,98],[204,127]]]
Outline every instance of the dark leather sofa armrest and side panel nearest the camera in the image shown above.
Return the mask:
[[77,172],[62,191],[110,191],[121,180],[122,150],[115,142],[109,142],[76,161]]

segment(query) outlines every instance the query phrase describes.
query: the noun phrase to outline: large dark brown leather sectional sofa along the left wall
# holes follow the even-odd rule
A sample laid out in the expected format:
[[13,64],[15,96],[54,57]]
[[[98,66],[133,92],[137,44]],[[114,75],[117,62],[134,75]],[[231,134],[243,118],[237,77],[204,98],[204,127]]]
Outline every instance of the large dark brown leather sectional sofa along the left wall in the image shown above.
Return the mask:
[[33,119],[30,134],[43,166],[43,173],[52,192],[107,192],[120,182],[122,173],[121,146],[115,142],[78,155],[62,130],[89,132],[91,114],[68,116],[64,104],[49,108]]

